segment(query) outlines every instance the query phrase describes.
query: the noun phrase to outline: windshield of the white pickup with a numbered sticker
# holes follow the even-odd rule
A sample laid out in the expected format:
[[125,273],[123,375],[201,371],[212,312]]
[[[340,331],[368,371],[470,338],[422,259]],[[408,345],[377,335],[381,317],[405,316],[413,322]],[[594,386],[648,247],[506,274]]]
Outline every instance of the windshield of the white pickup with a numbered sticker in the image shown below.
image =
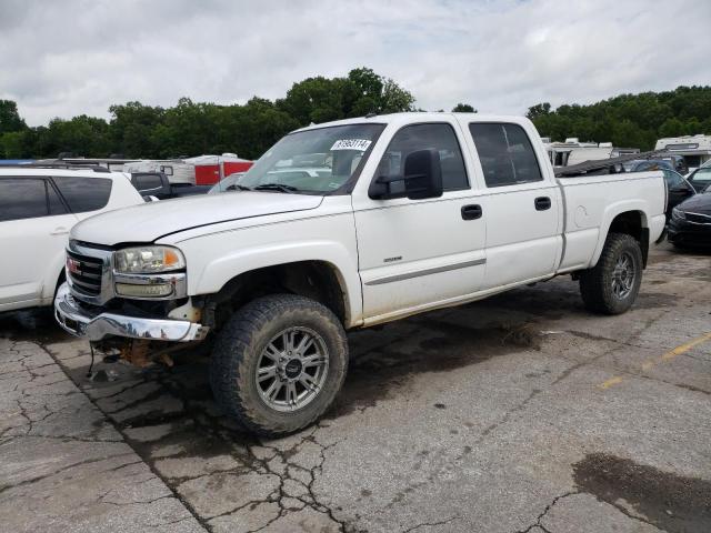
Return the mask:
[[350,124],[291,133],[238,180],[241,188],[323,194],[365,163],[384,124]]

